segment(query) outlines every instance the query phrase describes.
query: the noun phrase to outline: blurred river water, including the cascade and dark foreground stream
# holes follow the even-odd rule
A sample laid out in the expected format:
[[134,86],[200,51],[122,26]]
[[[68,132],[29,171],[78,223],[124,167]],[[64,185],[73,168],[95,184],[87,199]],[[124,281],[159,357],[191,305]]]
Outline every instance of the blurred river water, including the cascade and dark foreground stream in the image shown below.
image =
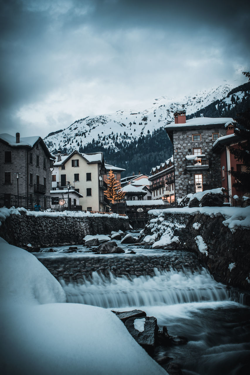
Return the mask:
[[[168,259],[178,258],[181,262],[185,258],[184,252],[176,250],[166,253],[136,246],[131,249],[137,254],[154,253],[160,258],[167,255]],[[188,256],[195,258],[193,254]],[[93,254],[93,257],[105,255]],[[131,259],[134,257],[131,255]],[[178,270],[171,266],[167,271],[154,268],[151,276],[93,272],[80,282],[63,279],[60,282],[68,302],[117,311],[142,309],[157,318],[159,329],[167,326],[170,335],[187,336],[187,345],[167,348],[167,355],[184,375],[249,374],[250,308],[230,301],[225,285],[215,282],[206,269],[201,266],[190,269],[186,264],[181,264]],[[166,354],[166,348],[158,348],[161,350]]]

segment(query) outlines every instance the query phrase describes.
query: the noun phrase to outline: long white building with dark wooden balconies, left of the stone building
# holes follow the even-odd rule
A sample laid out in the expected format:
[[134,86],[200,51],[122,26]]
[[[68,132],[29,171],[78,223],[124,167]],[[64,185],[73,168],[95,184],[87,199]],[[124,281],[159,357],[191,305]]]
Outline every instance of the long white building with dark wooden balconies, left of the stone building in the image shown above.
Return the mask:
[[151,169],[150,190],[152,192],[152,199],[163,199],[168,203],[175,201],[175,177],[173,156],[167,159],[164,163],[157,165]]

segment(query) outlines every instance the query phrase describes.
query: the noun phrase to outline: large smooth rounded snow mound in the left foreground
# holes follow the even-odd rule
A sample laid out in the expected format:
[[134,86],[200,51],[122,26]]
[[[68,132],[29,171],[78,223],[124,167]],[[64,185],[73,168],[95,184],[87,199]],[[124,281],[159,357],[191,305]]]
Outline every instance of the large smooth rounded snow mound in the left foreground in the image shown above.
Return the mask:
[[166,374],[115,314],[63,303],[62,287],[32,254],[0,245],[5,374]]

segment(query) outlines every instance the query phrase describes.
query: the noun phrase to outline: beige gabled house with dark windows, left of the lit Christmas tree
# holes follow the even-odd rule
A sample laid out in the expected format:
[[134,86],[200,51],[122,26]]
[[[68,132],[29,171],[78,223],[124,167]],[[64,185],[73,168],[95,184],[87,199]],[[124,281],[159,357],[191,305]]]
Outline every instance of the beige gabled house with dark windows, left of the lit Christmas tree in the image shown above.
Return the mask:
[[73,151],[69,155],[57,155],[51,172],[52,190],[75,190],[79,197],[79,205],[87,211],[106,211],[108,200],[104,196],[107,184],[103,180],[106,174],[102,152],[81,154]]

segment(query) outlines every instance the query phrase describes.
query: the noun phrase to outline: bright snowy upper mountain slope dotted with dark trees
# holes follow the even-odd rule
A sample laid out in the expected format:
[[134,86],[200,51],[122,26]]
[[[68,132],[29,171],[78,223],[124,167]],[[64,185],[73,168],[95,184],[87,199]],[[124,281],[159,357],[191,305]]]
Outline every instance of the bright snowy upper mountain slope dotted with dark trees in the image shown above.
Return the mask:
[[62,150],[69,153],[79,148],[81,152],[81,147],[87,143],[115,148],[116,142],[123,142],[124,139],[131,142],[141,135],[152,133],[167,121],[173,121],[173,113],[178,107],[184,107],[187,115],[195,113],[218,99],[226,98],[232,88],[232,84],[227,83],[179,99],[162,96],[154,99],[147,109],[135,106],[130,110],[81,118],[66,129],[48,134],[44,141],[51,152]]

